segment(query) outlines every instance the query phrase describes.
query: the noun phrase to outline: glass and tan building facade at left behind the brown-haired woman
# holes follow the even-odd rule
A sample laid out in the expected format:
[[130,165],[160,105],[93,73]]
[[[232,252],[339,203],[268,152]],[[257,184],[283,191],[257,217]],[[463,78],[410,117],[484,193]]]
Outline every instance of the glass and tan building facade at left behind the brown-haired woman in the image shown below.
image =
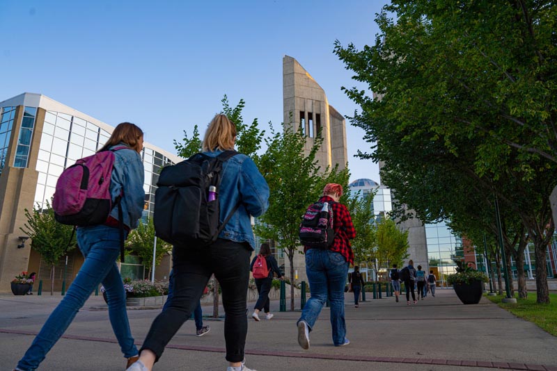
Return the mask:
[[[10,281],[22,271],[37,272],[38,279],[49,282],[50,266],[30,249],[30,240],[22,243],[25,209],[45,208],[63,170],[94,154],[113,129],[42,94],[24,93],[0,102],[0,292],[9,291]],[[141,156],[146,219],[154,210],[159,170],[180,158],[148,142]],[[55,267],[56,286],[63,274],[71,282],[82,262],[79,252],[68,254],[68,260]]]

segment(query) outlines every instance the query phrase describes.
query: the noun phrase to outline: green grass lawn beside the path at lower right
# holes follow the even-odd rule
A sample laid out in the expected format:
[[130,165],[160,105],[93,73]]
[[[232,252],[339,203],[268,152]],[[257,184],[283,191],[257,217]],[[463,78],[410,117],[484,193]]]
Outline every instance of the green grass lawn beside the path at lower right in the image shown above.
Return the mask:
[[557,294],[549,294],[549,304],[537,304],[535,292],[528,292],[528,299],[519,299],[517,304],[501,302],[502,296],[487,296],[487,299],[526,321],[534,322],[545,331],[557,336]]

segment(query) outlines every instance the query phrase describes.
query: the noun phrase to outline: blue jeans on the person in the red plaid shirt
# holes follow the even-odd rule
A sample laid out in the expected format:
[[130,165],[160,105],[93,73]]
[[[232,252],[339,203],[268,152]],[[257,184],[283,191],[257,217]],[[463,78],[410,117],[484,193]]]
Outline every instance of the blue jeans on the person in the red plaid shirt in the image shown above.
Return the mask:
[[329,297],[333,343],[337,346],[343,345],[346,336],[344,287],[348,274],[348,262],[338,252],[309,249],[306,252],[306,274],[311,297],[306,302],[304,310],[301,311],[298,322],[306,322],[311,331]]

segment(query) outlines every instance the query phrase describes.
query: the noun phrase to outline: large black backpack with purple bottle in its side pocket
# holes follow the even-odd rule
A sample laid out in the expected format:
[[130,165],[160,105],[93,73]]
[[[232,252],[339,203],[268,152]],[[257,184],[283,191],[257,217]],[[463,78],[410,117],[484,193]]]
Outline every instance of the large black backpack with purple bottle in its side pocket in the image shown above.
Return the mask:
[[[174,246],[203,247],[217,240],[235,213],[219,225],[219,186],[223,162],[236,151],[219,156],[194,154],[187,160],[164,167],[157,181],[153,221],[159,238]],[[208,200],[209,187],[217,189],[214,201]]]

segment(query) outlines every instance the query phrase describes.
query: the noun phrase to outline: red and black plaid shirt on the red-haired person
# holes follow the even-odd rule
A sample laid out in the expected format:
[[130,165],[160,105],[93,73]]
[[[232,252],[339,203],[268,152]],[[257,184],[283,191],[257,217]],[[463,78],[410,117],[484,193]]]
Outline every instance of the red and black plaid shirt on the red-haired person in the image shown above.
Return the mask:
[[[346,206],[340,204],[340,202],[335,202],[335,200],[329,196],[323,196],[319,201],[327,201],[333,208],[335,239],[333,245],[329,249],[334,252],[340,252],[348,263],[354,263],[354,252],[352,252],[350,240],[356,237],[356,230],[354,229],[354,224],[352,224],[350,212]],[[304,252],[306,252],[307,249],[308,247],[304,246]]]

